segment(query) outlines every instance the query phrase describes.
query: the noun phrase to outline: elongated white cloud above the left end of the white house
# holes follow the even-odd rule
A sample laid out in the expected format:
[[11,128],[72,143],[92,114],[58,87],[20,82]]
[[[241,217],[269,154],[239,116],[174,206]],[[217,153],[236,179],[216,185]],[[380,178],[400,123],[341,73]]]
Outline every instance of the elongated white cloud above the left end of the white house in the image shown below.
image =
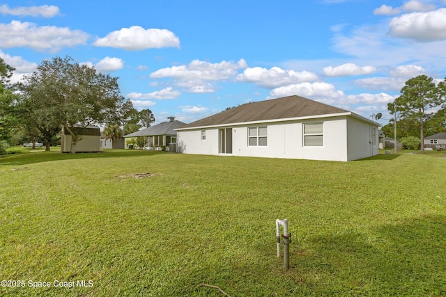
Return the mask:
[[152,72],[151,79],[162,79],[171,77],[183,81],[199,79],[201,81],[217,81],[229,79],[237,74],[237,70],[247,67],[246,61],[240,59],[237,63],[222,61],[220,63],[209,63],[194,60],[189,65],[162,68]]

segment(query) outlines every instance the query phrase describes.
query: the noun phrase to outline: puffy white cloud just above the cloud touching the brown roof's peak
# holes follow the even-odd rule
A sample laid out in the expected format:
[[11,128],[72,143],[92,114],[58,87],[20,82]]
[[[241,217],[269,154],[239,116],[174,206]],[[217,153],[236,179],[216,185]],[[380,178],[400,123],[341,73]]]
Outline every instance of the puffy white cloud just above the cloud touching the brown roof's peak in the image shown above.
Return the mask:
[[294,70],[282,70],[279,67],[272,67],[270,70],[261,67],[247,68],[242,74],[238,74],[237,81],[255,83],[264,88],[277,88],[292,83],[316,81],[317,75],[308,72],[296,72]]

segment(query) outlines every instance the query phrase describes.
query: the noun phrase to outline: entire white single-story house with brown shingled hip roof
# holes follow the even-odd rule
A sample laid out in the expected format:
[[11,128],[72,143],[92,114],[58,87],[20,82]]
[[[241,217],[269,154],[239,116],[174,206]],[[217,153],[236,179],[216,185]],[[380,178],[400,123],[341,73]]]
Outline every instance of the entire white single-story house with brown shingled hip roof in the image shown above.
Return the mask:
[[176,129],[184,154],[351,161],[374,156],[380,125],[299,96],[243,104]]

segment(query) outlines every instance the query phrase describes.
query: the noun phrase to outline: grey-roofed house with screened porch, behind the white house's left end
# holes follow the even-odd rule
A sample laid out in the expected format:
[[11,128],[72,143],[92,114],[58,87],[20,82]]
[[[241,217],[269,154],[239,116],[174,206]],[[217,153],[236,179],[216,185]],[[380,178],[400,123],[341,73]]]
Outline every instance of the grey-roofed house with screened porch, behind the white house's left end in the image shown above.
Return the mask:
[[[175,117],[173,116],[168,119],[169,121],[167,122],[162,122],[152,127],[124,135],[123,138],[125,138],[125,142],[127,142],[131,138],[146,136],[148,137],[146,148],[149,150],[157,150],[160,147],[169,147],[170,143],[176,143],[175,129],[183,127],[186,124],[179,120],[175,120]],[[125,145],[125,148],[128,148],[127,144]]]

